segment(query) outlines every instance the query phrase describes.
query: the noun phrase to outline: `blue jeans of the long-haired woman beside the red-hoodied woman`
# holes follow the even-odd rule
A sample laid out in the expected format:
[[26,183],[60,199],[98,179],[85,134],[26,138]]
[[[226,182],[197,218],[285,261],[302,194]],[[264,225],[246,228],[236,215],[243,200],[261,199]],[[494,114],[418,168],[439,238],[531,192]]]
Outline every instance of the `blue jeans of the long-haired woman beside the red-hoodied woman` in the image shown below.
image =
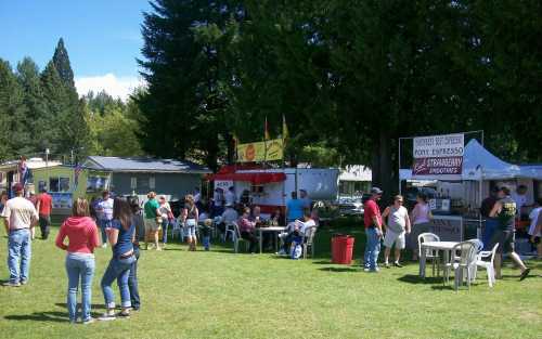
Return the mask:
[[113,258],[109,261],[107,269],[102,277],[102,291],[105,299],[105,308],[115,309],[115,294],[111,285],[117,279],[118,289],[120,290],[120,304],[122,308],[131,307],[130,288],[128,287],[128,278],[130,276],[130,268],[136,261],[136,257],[131,256],[127,259]]

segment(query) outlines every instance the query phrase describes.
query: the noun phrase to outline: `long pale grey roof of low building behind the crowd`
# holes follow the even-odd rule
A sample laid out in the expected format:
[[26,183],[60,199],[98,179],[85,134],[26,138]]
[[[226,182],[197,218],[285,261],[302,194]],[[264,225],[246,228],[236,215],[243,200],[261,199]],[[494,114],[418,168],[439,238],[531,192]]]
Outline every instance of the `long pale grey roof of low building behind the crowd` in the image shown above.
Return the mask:
[[112,172],[170,172],[170,173],[210,173],[204,166],[188,160],[157,159],[151,157],[102,157],[89,156],[85,167]]

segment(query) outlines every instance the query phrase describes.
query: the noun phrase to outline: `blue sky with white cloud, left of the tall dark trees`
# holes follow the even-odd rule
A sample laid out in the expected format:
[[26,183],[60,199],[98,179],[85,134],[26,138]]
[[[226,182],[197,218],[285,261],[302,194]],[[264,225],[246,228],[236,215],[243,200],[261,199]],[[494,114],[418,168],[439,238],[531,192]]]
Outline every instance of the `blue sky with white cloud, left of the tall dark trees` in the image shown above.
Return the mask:
[[139,81],[142,12],[147,0],[0,0],[0,57],[30,56],[42,69],[64,38],[79,94],[125,96]]

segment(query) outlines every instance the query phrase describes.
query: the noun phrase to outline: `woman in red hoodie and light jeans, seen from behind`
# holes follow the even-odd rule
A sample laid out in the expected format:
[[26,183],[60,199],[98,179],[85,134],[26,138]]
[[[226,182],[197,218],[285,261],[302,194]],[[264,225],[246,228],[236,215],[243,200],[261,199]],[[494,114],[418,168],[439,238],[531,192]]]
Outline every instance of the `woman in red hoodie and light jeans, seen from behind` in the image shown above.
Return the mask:
[[[64,239],[68,238],[68,245]],[[92,299],[92,277],[94,276],[94,248],[99,244],[98,227],[90,218],[89,204],[86,199],[77,198],[72,208],[72,217],[67,218],[56,236],[56,247],[66,250],[66,272],[68,276],[67,308],[69,322],[77,321],[77,288],[81,281],[81,322],[93,323],[90,316]]]

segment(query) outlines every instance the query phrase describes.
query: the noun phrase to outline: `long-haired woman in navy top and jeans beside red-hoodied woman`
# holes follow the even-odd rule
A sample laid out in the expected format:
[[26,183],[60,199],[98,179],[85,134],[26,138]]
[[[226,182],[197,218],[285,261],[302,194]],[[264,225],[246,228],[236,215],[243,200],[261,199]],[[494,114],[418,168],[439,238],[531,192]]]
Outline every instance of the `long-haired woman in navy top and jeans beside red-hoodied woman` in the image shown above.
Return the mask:
[[[117,316],[130,316],[131,299],[128,279],[130,269],[136,262],[133,250],[136,226],[133,225],[130,204],[124,199],[115,199],[113,221],[111,227],[107,229],[107,238],[113,249],[113,258],[102,277],[101,286],[106,312],[99,318],[100,321],[113,321]],[[117,281],[120,290],[121,311],[118,314],[115,314],[115,294],[112,288],[114,281]]]

